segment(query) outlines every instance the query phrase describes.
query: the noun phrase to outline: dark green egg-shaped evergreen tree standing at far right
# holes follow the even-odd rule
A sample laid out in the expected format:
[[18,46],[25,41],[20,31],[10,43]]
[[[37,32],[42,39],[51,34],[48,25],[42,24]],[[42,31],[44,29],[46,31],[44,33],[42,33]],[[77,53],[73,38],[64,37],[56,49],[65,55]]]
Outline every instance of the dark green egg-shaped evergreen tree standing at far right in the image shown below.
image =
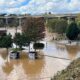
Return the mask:
[[67,28],[66,36],[70,40],[76,40],[78,37],[78,34],[79,34],[78,26],[75,22],[72,22]]

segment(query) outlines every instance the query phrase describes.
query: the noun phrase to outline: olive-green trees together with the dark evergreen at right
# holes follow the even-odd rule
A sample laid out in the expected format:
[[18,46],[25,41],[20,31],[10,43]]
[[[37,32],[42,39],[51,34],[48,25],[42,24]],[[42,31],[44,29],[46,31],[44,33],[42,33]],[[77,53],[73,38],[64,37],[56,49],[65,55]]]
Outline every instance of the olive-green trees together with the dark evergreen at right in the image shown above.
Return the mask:
[[50,32],[66,34],[67,38],[70,40],[76,40],[80,33],[80,25],[75,20],[71,21],[70,24],[68,24],[65,19],[48,20],[47,26]]

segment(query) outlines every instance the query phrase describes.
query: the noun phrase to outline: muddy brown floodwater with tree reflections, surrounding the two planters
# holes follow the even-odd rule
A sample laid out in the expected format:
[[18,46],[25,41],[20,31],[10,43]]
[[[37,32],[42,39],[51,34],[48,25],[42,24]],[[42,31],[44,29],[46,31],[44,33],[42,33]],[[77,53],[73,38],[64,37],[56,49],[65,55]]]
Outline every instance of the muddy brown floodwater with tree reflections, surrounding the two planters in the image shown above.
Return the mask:
[[48,56],[30,60],[27,51],[24,50],[20,54],[20,59],[11,60],[6,54],[6,49],[0,49],[0,80],[50,80],[58,71],[65,69],[72,60],[80,56],[80,47],[48,42],[40,54]]

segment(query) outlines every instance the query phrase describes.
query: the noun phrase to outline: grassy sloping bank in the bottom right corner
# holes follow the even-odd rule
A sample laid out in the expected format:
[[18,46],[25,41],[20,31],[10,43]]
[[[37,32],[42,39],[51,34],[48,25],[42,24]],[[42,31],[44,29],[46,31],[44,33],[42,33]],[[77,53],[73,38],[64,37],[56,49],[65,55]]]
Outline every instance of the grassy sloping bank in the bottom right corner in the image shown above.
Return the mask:
[[80,80],[80,58],[74,60],[65,70],[58,72],[52,80]]

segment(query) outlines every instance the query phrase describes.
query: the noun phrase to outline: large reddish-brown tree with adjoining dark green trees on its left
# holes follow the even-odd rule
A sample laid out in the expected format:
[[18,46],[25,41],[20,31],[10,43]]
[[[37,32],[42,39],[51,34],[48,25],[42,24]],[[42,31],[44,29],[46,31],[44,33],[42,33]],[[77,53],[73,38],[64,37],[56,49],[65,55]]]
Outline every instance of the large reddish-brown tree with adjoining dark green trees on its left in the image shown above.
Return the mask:
[[22,46],[29,46],[31,42],[39,42],[45,37],[43,18],[26,18],[22,26],[22,33],[15,33],[14,38],[10,34],[0,36],[0,48],[8,49],[12,43],[15,43],[22,49]]

